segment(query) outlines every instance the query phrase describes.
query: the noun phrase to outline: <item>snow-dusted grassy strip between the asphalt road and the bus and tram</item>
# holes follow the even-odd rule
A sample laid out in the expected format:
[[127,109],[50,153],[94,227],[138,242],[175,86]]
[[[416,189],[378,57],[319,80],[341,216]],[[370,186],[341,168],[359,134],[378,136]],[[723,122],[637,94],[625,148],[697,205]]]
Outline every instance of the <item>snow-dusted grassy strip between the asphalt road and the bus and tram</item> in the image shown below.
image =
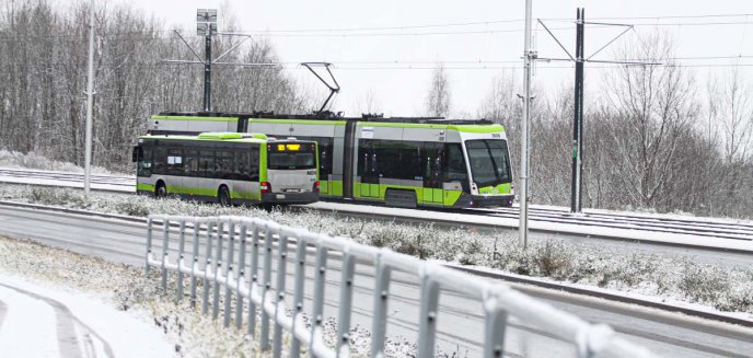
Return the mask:
[[556,236],[534,243],[524,251],[518,246],[517,234],[509,231],[483,234],[431,224],[344,218],[313,210],[223,208],[132,195],[95,193],[86,199],[82,192],[66,188],[2,185],[0,199],[137,217],[149,213],[259,217],[312,232],[352,238],[359,243],[386,246],[426,259],[651,296],[668,302],[700,304],[749,316],[753,313],[753,267],[730,269],[698,263],[693,256],[606,250],[569,243]]

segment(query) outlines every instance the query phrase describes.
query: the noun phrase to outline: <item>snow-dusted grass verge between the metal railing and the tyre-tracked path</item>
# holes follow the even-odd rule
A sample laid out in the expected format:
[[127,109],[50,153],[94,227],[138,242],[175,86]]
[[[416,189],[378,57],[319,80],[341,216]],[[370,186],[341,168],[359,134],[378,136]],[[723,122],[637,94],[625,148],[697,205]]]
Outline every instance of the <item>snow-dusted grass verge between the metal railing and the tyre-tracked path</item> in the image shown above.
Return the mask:
[[[253,349],[242,332],[223,330],[200,312],[176,307],[172,298],[158,295],[157,280],[130,266],[0,238],[0,282],[63,302],[118,357],[238,357]],[[38,315],[26,319],[33,322]],[[19,328],[12,324],[3,323]],[[3,356],[34,348],[23,342],[2,347],[16,349]]]

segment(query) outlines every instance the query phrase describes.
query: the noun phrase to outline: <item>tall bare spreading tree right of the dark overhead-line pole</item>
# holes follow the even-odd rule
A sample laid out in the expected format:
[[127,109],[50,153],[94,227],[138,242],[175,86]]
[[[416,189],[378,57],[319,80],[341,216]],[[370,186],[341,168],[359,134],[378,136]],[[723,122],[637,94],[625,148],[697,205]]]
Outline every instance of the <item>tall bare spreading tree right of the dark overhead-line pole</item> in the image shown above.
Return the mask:
[[614,169],[628,204],[657,207],[671,199],[667,184],[680,177],[682,140],[698,116],[693,78],[672,61],[672,39],[653,33],[627,45],[622,58],[663,66],[622,66],[605,77],[603,93],[614,108],[609,134]]

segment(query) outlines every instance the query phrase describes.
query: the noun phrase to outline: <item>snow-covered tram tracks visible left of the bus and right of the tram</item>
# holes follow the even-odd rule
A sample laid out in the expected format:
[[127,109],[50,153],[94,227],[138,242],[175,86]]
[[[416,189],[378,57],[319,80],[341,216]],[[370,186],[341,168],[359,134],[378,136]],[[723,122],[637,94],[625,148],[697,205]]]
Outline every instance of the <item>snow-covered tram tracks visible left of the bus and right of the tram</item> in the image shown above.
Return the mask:
[[[0,169],[0,182],[81,187],[83,185],[83,174]],[[91,183],[93,189],[134,193],[135,177],[92,175]],[[518,208],[514,207],[467,209],[461,210],[457,213],[518,219]],[[551,224],[578,226],[584,229],[635,230],[653,234],[679,234],[714,240],[722,239],[735,242],[753,242],[753,222],[750,221],[693,217],[682,218],[676,216],[610,212],[606,210],[588,209],[583,213],[572,215],[568,212],[566,208],[536,206],[530,209],[529,217],[532,221]]]

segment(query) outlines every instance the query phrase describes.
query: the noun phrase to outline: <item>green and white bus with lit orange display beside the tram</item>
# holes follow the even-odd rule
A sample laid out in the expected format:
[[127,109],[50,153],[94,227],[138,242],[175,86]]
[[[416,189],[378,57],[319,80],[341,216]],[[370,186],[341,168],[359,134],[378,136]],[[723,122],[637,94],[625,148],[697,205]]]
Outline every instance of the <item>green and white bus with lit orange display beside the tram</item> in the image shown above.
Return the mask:
[[315,141],[259,134],[150,135],[134,148],[139,194],[233,204],[318,200]]

